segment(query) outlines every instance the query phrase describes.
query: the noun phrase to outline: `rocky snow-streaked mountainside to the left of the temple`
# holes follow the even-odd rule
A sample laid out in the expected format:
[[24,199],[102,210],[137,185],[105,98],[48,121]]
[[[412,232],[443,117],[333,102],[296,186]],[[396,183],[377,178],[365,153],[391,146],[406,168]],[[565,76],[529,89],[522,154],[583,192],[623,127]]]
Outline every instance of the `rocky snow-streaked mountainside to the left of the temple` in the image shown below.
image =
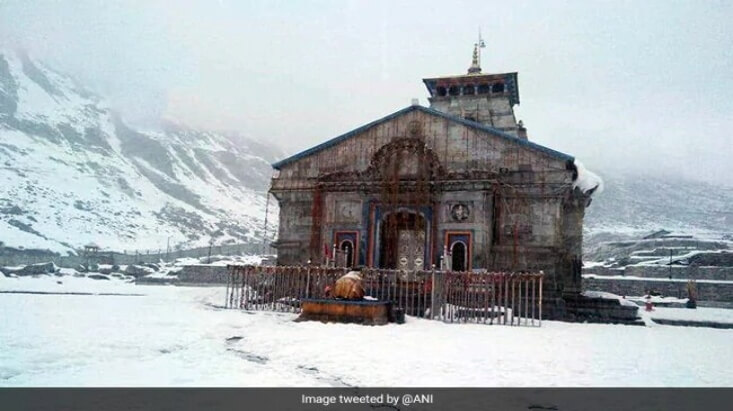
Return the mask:
[[[0,246],[65,253],[89,242],[122,251],[252,241],[279,155],[170,123],[135,130],[71,78],[0,51]],[[275,204],[269,211],[276,221]]]

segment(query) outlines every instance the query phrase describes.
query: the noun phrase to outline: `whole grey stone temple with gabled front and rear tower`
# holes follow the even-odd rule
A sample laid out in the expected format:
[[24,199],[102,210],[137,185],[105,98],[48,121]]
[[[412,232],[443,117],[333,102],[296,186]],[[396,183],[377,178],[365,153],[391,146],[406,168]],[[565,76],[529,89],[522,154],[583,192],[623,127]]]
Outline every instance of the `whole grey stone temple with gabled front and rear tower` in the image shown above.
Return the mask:
[[[423,79],[416,103],[273,164],[280,265],[545,273],[545,302],[581,286],[574,158],[530,141],[517,73]],[[551,307],[548,307],[551,309]],[[549,316],[552,316],[548,312]]]

